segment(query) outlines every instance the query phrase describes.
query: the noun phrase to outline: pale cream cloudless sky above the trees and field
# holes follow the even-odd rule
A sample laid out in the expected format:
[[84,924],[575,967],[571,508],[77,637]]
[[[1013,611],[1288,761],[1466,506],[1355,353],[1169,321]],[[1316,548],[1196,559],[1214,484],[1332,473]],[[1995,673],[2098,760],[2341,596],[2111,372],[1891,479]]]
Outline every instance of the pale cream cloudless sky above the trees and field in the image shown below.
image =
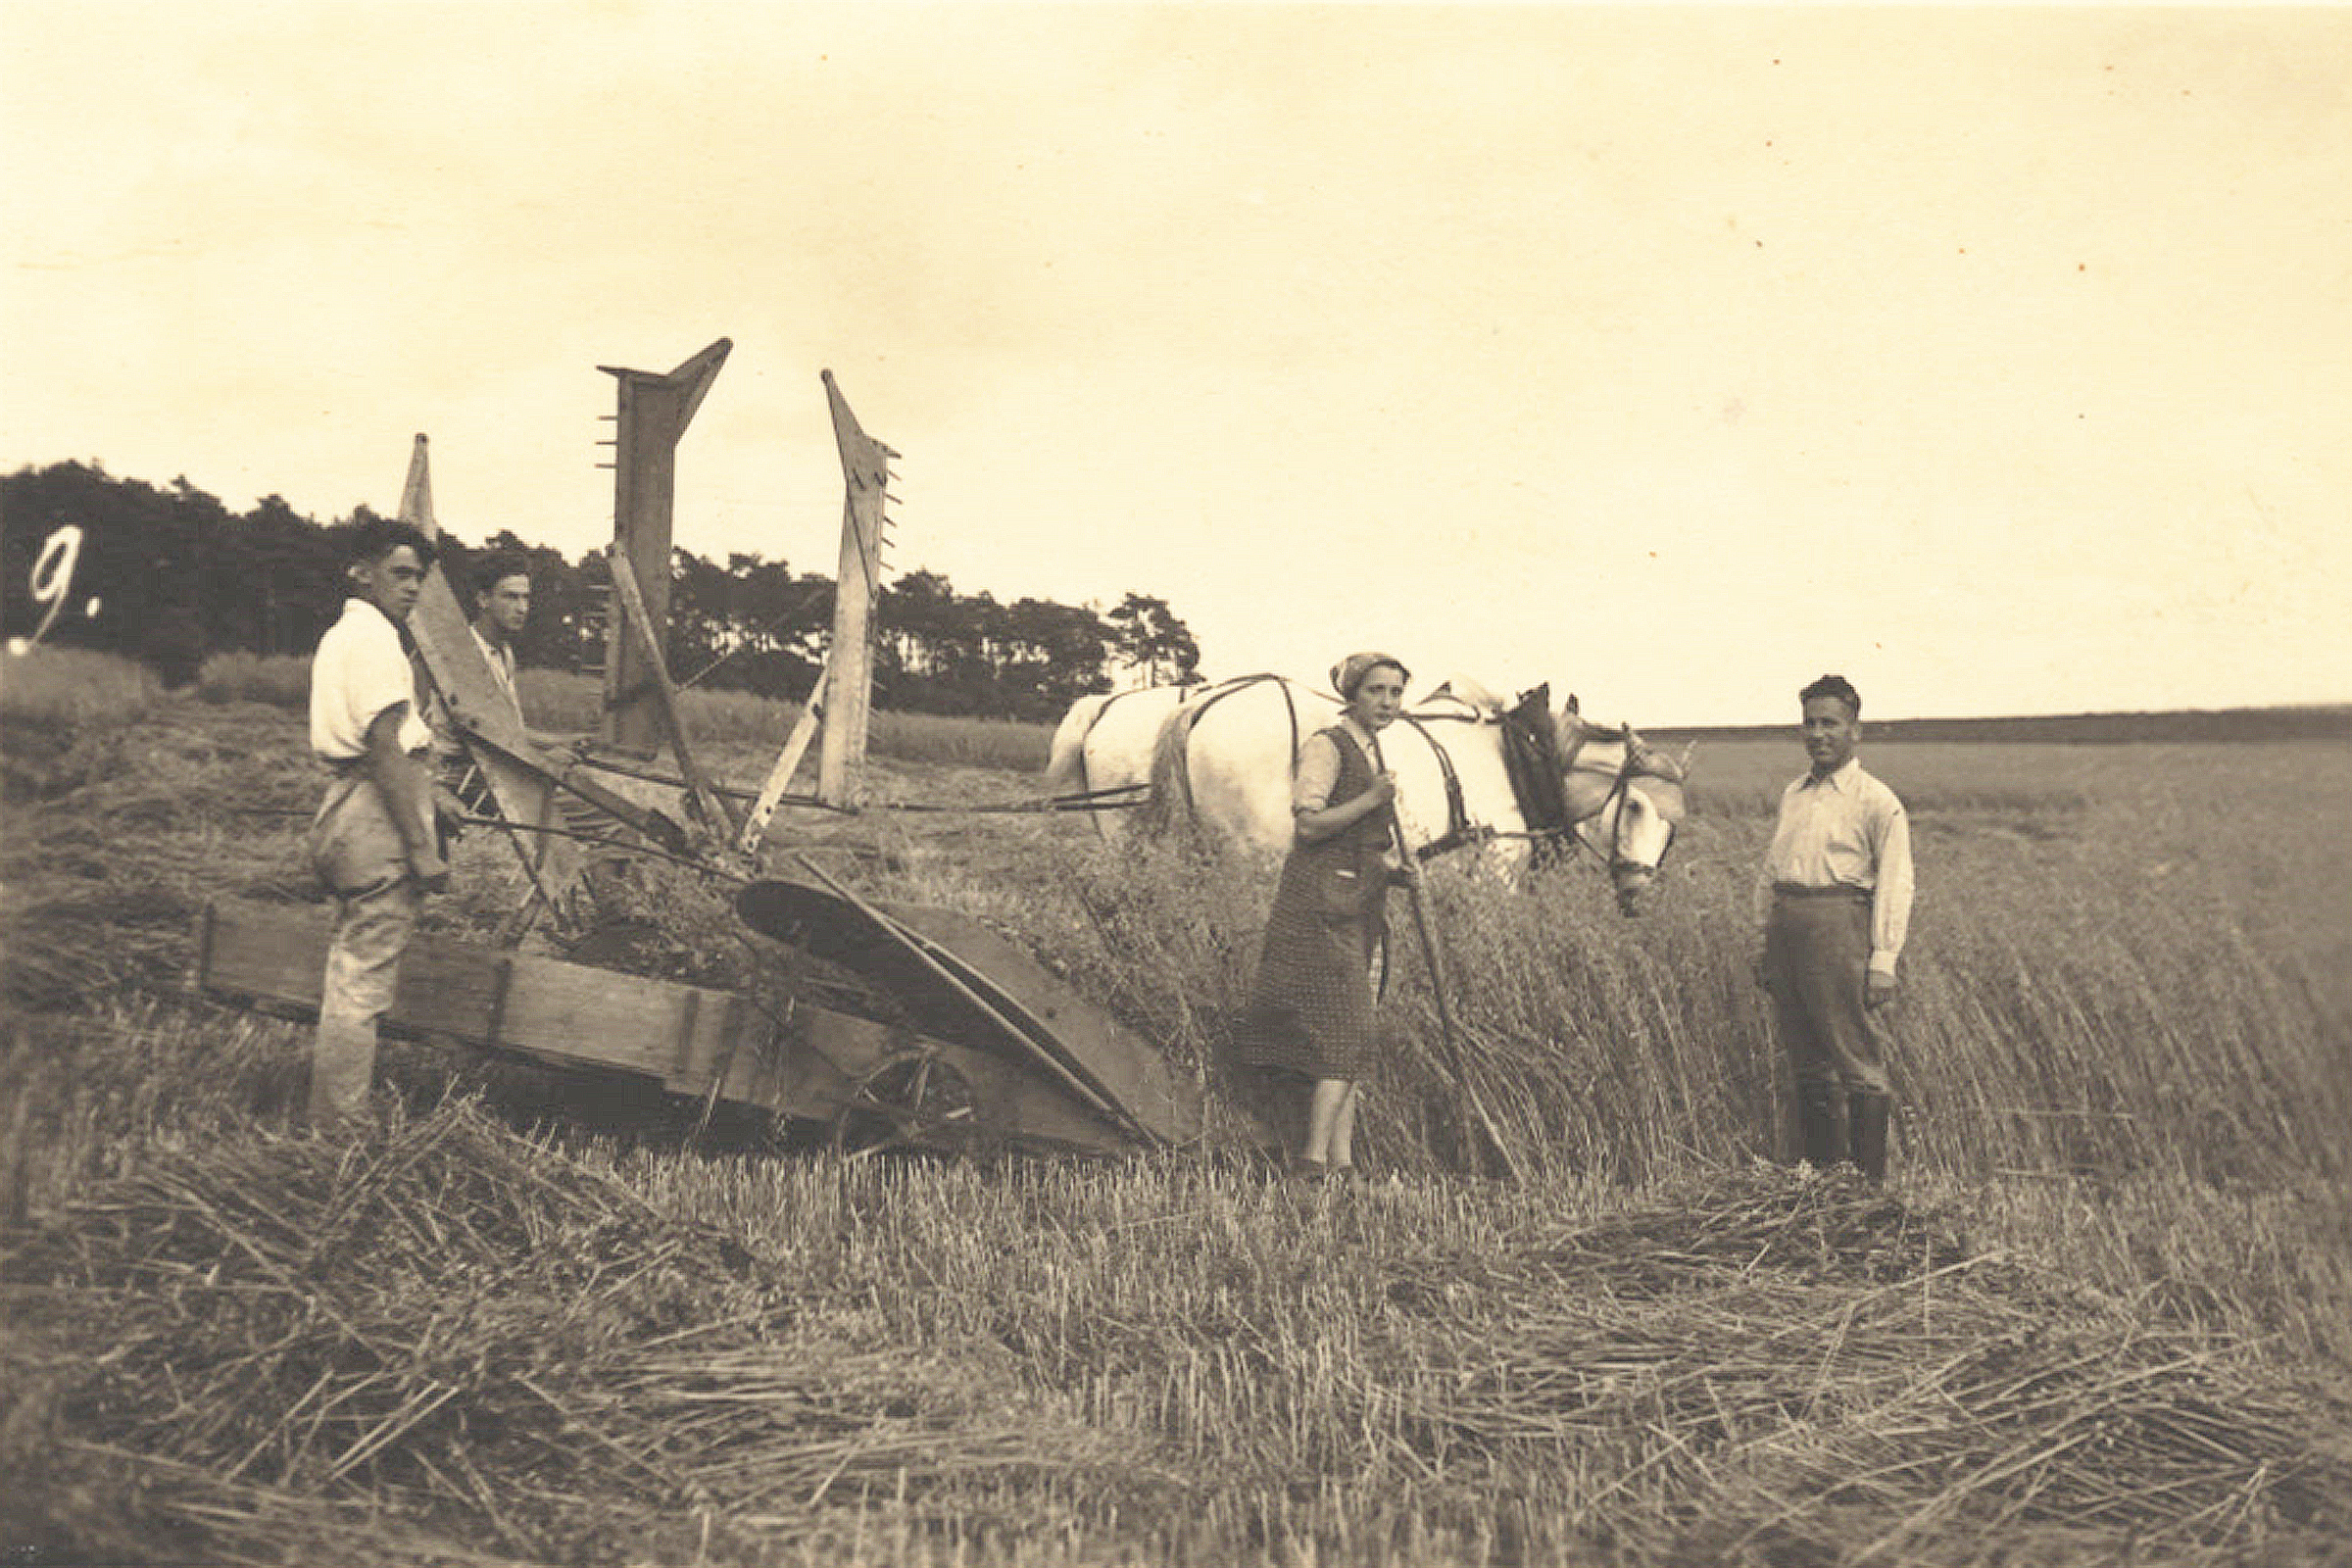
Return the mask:
[[2352,701],[2352,9],[0,0],[0,468],[1649,726]]

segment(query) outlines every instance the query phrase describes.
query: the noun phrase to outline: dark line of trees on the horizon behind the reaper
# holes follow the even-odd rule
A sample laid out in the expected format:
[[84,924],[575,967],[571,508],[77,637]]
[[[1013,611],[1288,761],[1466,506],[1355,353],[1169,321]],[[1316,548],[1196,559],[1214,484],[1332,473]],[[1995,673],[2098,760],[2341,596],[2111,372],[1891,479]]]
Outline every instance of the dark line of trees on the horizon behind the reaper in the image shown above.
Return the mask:
[[[186,480],[153,487],[99,463],[52,463],[0,477],[0,630],[40,628],[33,569],[56,529],[82,531],[80,559],[49,642],[139,658],[167,684],[195,679],[212,654],[308,656],[341,614],[336,529],[280,496],[230,512]],[[442,536],[449,583],[482,552],[532,571],[524,665],[595,670],[604,658],[609,569],[597,550],[562,552],[496,531],[480,545]],[[1188,679],[1200,646],[1167,599],[1129,592],[1117,607],[957,592],[936,571],[910,571],[877,602],[875,701],[913,712],[1007,719],[1058,717],[1073,698],[1108,691],[1122,672]],[[807,696],[833,635],[833,578],[795,574],[760,555],[670,555],[670,672],[682,684],[760,696]]]

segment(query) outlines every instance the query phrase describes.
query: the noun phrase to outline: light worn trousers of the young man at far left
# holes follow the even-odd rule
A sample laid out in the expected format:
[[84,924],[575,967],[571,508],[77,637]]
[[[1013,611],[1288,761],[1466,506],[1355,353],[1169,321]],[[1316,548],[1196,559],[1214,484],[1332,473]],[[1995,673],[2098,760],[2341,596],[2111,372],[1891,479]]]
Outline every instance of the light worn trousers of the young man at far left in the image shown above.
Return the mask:
[[[426,818],[430,820],[430,816]],[[376,785],[341,773],[310,820],[310,867],[334,893],[334,933],[310,1046],[310,1126],[332,1128],[367,1114],[376,1077],[376,1023],[393,1006],[400,954],[426,896]]]

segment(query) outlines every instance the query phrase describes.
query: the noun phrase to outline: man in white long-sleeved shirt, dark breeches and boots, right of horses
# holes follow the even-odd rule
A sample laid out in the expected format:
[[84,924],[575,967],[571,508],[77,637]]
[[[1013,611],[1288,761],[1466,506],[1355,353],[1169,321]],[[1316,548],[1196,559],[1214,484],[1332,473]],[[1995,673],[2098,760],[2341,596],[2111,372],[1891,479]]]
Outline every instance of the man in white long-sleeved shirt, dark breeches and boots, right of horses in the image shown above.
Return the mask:
[[1780,1048],[1797,1079],[1804,1159],[1886,1178],[1886,1018],[1910,926],[1903,802],[1853,759],[1863,698],[1842,675],[1799,693],[1811,771],[1780,792],[1757,886]]

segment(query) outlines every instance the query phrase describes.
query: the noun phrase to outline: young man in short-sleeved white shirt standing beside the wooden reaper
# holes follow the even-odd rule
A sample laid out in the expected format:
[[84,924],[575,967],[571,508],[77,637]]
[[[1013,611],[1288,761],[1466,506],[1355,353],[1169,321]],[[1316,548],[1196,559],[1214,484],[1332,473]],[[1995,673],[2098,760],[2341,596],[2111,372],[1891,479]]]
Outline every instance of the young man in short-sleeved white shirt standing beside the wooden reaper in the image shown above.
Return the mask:
[[310,1048],[310,1126],[322,1131],[365,1117],[400,954],[426,893],[449,886],[426,766],[433,736],[400,639],[433,552],[412,524],[362,520],[343,618],[310,661],[310,750],[332,773],[310,820],[310,865],[334,896]]

